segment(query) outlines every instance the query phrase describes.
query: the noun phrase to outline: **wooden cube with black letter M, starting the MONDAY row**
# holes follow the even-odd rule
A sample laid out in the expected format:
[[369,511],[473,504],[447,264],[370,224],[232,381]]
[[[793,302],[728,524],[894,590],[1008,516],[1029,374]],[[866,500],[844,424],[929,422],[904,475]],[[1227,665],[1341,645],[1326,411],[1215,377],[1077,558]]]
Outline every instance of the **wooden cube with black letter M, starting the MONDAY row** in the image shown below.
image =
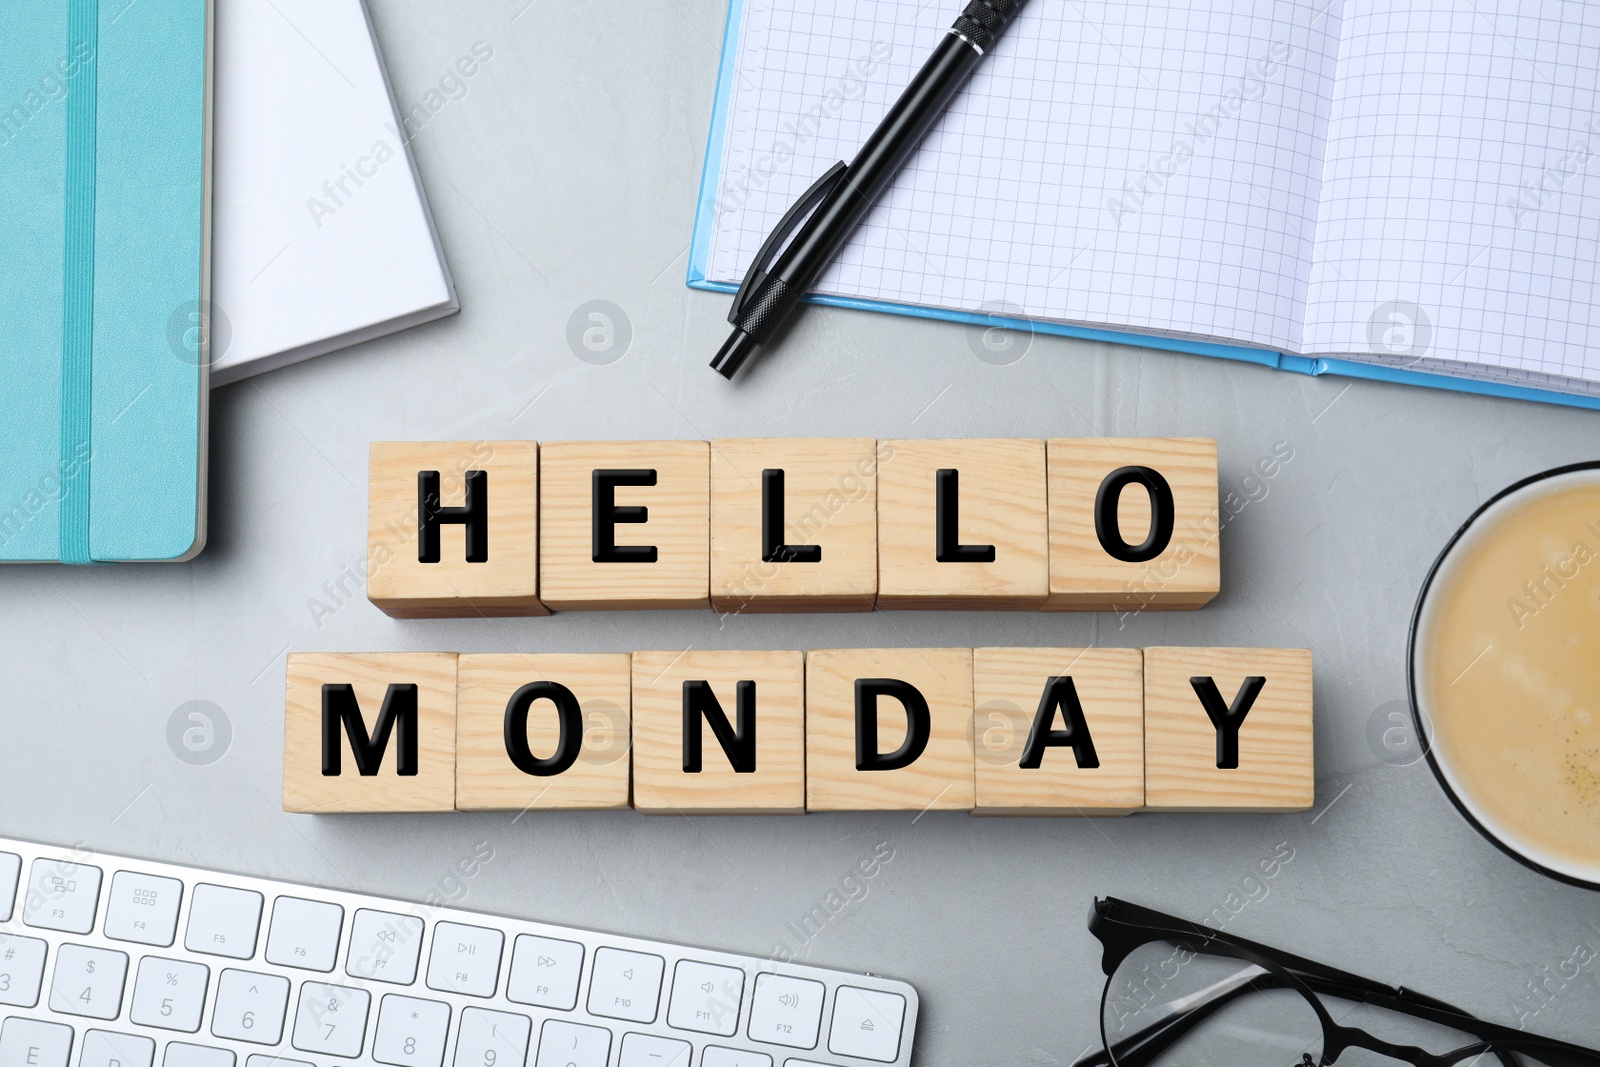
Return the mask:
[[454,806],[454,653],[290,653],[285,811]]

